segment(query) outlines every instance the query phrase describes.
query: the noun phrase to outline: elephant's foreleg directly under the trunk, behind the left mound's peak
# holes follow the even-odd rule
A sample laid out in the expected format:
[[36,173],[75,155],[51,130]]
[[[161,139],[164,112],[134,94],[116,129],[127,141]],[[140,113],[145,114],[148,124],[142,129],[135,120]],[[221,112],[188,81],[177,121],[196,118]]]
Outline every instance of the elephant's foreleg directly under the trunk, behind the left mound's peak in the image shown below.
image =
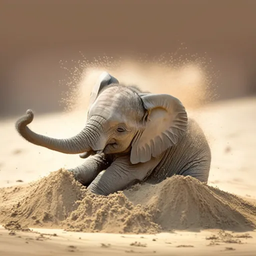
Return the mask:
[[111,164],[111,159],[102,154],[95,154],[75,168],[68,169],[74,178],[84,186],[88,186],[101,170],[106,169]]

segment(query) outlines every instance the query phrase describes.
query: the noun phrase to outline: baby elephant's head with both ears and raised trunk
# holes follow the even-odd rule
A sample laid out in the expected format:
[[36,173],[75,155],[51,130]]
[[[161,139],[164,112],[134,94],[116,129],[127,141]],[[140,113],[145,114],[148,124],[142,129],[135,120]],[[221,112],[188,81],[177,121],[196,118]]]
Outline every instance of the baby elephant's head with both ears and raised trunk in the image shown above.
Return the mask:
[[[182,103],[168,94],[140,93],[103,72],[94,86],[85,127],[75,136],[56,139],[31,131],[31,110],[16,122],[29,142],[63,153],[105,154],[130,150],[130,162],[146,162],[177,143],[187,125]],[[86,154],[85,154],[86,155]]]

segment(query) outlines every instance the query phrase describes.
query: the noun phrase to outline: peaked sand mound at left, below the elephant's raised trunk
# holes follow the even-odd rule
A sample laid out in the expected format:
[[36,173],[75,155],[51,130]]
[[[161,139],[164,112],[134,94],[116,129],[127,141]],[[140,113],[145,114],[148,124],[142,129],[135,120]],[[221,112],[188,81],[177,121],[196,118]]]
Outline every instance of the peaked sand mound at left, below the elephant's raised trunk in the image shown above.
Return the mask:
[[31,184],[23,198],[2,209],[5,216],[1,220],[19,220],[32,226],[58,224],[75,209],[75,201],[83,197],[84,190],[70,172],[59,169]]

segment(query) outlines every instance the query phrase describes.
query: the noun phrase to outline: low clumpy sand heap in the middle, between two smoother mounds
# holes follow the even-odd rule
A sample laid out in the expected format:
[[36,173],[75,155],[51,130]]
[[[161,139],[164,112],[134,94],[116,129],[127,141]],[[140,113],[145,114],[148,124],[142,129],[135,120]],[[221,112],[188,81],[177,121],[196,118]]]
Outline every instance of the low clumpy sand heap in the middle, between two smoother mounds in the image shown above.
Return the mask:
[[152,215],[134,206],[122,192],[107,197],[87,192],[66,219],[68,230],[120,233],[152,233],[160,230]]

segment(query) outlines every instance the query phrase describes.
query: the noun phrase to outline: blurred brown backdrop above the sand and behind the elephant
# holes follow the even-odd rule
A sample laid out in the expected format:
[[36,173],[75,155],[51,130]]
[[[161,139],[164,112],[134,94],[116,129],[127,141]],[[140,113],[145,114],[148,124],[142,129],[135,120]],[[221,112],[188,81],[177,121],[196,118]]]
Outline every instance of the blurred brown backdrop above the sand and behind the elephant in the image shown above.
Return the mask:
[[0,0],[0,117],[62,111],[95,63],[152,90],[172,83],[178,94],[193,80],[214,101],[252,95],[255,11],[253,0]]

